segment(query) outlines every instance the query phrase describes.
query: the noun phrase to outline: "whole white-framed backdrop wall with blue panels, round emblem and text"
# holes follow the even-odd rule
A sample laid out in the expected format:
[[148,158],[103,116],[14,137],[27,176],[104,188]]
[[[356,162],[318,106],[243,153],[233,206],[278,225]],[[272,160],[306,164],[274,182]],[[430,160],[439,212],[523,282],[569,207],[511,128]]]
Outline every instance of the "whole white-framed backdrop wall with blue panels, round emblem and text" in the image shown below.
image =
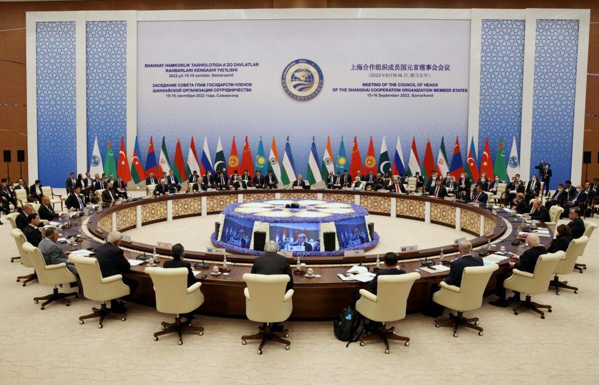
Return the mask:
[[[464,163],[473,140],[479,164],[486,137],[493,160],[515,138],[524,175],[543,159],[554,181],[580,179],[588,10],[65,11],[26,22],[30,180],[62,187],[89,168],[96,136],[102,156],[124,136],[129,160],[137,137],[142,163],[150,136],[157,157],[165,137],[171,161],[177,137],[184,158],[192,136],[198,156],[206,137],[214,160],[219,136],[227,158],[233,136],[240,157],[246,136],[254,156],[262,136],[267,157],[274,136],[282,160],[289,136],[302,174],[313,136],[320,157],[331,137],[334,160],[343,136],[348,162],[354,137],[362,162],[370,136],[376,158],[383,137],[391,156],[399,138],[405,163],[413,139],[422,163],[427,139],[436,160],[441,137],[449,157],[457,137]],[[305,97],[284,76],[299,59],[322,80]]]

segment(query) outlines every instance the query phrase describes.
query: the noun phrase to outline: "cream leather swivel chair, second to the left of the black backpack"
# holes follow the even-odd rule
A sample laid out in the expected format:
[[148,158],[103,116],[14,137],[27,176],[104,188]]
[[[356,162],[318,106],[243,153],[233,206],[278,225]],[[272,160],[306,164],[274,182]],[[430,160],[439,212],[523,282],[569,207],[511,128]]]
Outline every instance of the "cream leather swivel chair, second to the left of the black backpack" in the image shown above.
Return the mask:
[[167,333],[179,334],[179,345],[183,344],[182,332],[198,332],[204,334],[204,328],[191,326],[190,321],[181,322],[181,314],[190,313],[204,303],[204,294],[199,290],[201,282],[187,287],[187,269],[164,269],[162,267],[146,267],[144,270],[152,278],[156,292],[156,310],[162,313],[177,314],[175,323],[162,323],[162,331],[154,333],[154,341],[158,336]]

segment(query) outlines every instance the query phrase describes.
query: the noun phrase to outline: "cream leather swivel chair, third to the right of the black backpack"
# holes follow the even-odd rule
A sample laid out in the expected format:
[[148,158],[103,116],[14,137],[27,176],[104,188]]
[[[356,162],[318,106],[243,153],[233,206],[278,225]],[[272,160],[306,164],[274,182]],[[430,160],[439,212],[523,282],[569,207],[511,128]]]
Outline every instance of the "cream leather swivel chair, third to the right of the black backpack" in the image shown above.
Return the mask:
[[526,300],[520,301],[519,305],[512,309],[515,315],[518,315],[518,311],[522,309],[530,309],[539,313],[544,319],[545,313],[540,309],[547,309],[548,312],[551,312],[551,305],[539,305],[539,303],[531,302],[530,296],[547,292],[549,289],[547,281],[551,279],[555,267],[564,256],[565,252],[563,251],[543,254],[537,259],[534,273],[513,269],[512,276],[503,281],[503,287],[506,289],[526,294]]

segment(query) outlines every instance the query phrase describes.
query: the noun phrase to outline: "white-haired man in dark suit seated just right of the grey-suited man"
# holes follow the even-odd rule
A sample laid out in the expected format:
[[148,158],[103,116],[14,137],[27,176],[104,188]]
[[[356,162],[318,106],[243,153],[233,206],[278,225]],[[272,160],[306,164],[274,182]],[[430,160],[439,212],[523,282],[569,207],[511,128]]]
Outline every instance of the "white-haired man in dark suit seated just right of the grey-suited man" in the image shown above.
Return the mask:
[[[107,278],[109,276],[121,274],[129,272],[131,269],[131,264],[125,258],[123,254],[123,250],[119,247],[120,240],[122,236],[119,231],[112,231],[108,234],[108,239],[106,243],[102,243],[102,245],[98,246],[96,250],[96,259],[100,265],[100,272],[102,273],[102,278]],[[123,276],[123,284],[129,286],[130,293],[128,296],[123,298],[131,298],[135,290],[137,290],[138,282],[135,279],[128,278]],[[124,313],[127,311],[125,308],[125,302],[119,301],[118,299],[111,300],[111,308],[115,312]]]

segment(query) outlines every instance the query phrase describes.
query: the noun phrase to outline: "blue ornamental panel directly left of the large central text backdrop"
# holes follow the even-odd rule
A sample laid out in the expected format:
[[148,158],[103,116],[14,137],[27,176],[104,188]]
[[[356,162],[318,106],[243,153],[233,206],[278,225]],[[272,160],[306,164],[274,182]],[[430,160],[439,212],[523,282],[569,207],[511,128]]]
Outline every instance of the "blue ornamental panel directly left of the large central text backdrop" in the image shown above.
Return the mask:
[[108,139],[112,139],[113,148],[119,149],[120,137],[126,137],[126,28],[127,22],[124,21],[86,23],[88,169],[96,136],[102,162]]

